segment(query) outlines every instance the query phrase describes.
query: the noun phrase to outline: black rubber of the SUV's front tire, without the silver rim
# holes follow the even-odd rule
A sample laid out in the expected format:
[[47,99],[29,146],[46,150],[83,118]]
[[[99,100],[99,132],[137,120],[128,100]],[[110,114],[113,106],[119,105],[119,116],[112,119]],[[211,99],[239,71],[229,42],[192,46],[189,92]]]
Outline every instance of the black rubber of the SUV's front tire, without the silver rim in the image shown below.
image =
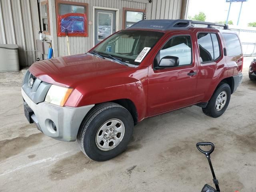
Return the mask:
[[[125,127],[124,136],[115,148],[104,151],[96,144],[96,134],[100,127],[111,119],[122,121]],[[92,160],[106,161],[126,150],[132,138],[133,128],[132,115],[126,108],[113,102],[102,103],[94,106],[84,118],[77,134],[77,142],[82,152]]]

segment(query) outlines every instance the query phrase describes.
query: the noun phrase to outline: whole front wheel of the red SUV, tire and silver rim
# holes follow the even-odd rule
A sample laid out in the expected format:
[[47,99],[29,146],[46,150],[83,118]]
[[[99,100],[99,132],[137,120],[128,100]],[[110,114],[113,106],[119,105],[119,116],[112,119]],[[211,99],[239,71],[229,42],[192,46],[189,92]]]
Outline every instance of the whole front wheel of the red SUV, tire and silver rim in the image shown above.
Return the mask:
[[80,126],[78,145],[92,160],[106,161],[126,149],[133,128],[132,115],[126,108],[112,102],[98,104]]

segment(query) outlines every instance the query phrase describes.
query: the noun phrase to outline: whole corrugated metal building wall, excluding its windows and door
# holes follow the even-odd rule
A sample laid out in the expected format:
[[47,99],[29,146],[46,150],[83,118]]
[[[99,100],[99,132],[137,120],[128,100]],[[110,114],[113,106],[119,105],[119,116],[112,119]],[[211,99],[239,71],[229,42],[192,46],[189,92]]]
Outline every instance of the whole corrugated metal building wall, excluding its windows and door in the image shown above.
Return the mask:
[[[43,0],[40,0],[41,2]],[[184,0],[66,0],[88,3],[88,21],[93,21],[93,6],[119,9],[119,26],[122,29],[123,8],[146,10],[146,19],[178,19]],[[185,0],[186,1],[186,0]],[[55,0],[48,0],[50,35],[53,56],[68,55],[66,37],[57,37]],[[36,50],[40,23],[37,0],[0,0],[0,44],[17,44],[20,66],[30,66],[40,58]],[[88,25],[88,37],[68,37],[71,54],[87,52],[93,47],[93,25]]]

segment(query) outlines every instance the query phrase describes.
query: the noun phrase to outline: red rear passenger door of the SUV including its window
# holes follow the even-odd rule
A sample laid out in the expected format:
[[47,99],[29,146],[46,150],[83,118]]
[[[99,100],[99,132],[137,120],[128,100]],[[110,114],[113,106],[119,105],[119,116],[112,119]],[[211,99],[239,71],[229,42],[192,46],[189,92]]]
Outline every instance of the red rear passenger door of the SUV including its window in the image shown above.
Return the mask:
[[220,33],[215,29],[195,30],[198,54],[198,82],[195,102],[208,102],[221,79],[226,78]]

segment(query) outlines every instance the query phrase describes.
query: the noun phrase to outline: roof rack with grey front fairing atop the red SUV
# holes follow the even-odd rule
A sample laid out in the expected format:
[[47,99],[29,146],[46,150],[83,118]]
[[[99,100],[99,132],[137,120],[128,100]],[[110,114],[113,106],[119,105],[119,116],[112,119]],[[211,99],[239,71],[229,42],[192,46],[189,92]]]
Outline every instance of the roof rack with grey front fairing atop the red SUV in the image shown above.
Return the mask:
[[141,20],[132,26],[129,29],[159,29],[159,30],[182,30],[189,29],[193,27],[193,24],[201,24],[207,25],[208,28],[213,28],[213,26],[223,27],[224,29],[228,29],[227,24],[218,24],[218,23],[210,23],[210,22],[202,22],[202,21],[192,21],[192,20],[184,20],[184,19],[156,19],[156,20]]

